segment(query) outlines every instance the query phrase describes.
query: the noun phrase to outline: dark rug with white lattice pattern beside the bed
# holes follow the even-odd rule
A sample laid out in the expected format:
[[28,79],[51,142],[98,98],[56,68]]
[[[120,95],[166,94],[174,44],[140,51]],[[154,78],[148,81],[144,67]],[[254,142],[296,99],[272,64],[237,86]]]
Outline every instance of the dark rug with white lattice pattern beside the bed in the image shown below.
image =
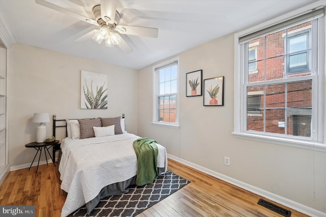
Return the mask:
[[167,171],[151,183],[143,186],[130,186],[129,192],[99,201],[90,215],[86,207],[79,208],[73,216],[135,216],[168,197],[190,183],[188,180]]

